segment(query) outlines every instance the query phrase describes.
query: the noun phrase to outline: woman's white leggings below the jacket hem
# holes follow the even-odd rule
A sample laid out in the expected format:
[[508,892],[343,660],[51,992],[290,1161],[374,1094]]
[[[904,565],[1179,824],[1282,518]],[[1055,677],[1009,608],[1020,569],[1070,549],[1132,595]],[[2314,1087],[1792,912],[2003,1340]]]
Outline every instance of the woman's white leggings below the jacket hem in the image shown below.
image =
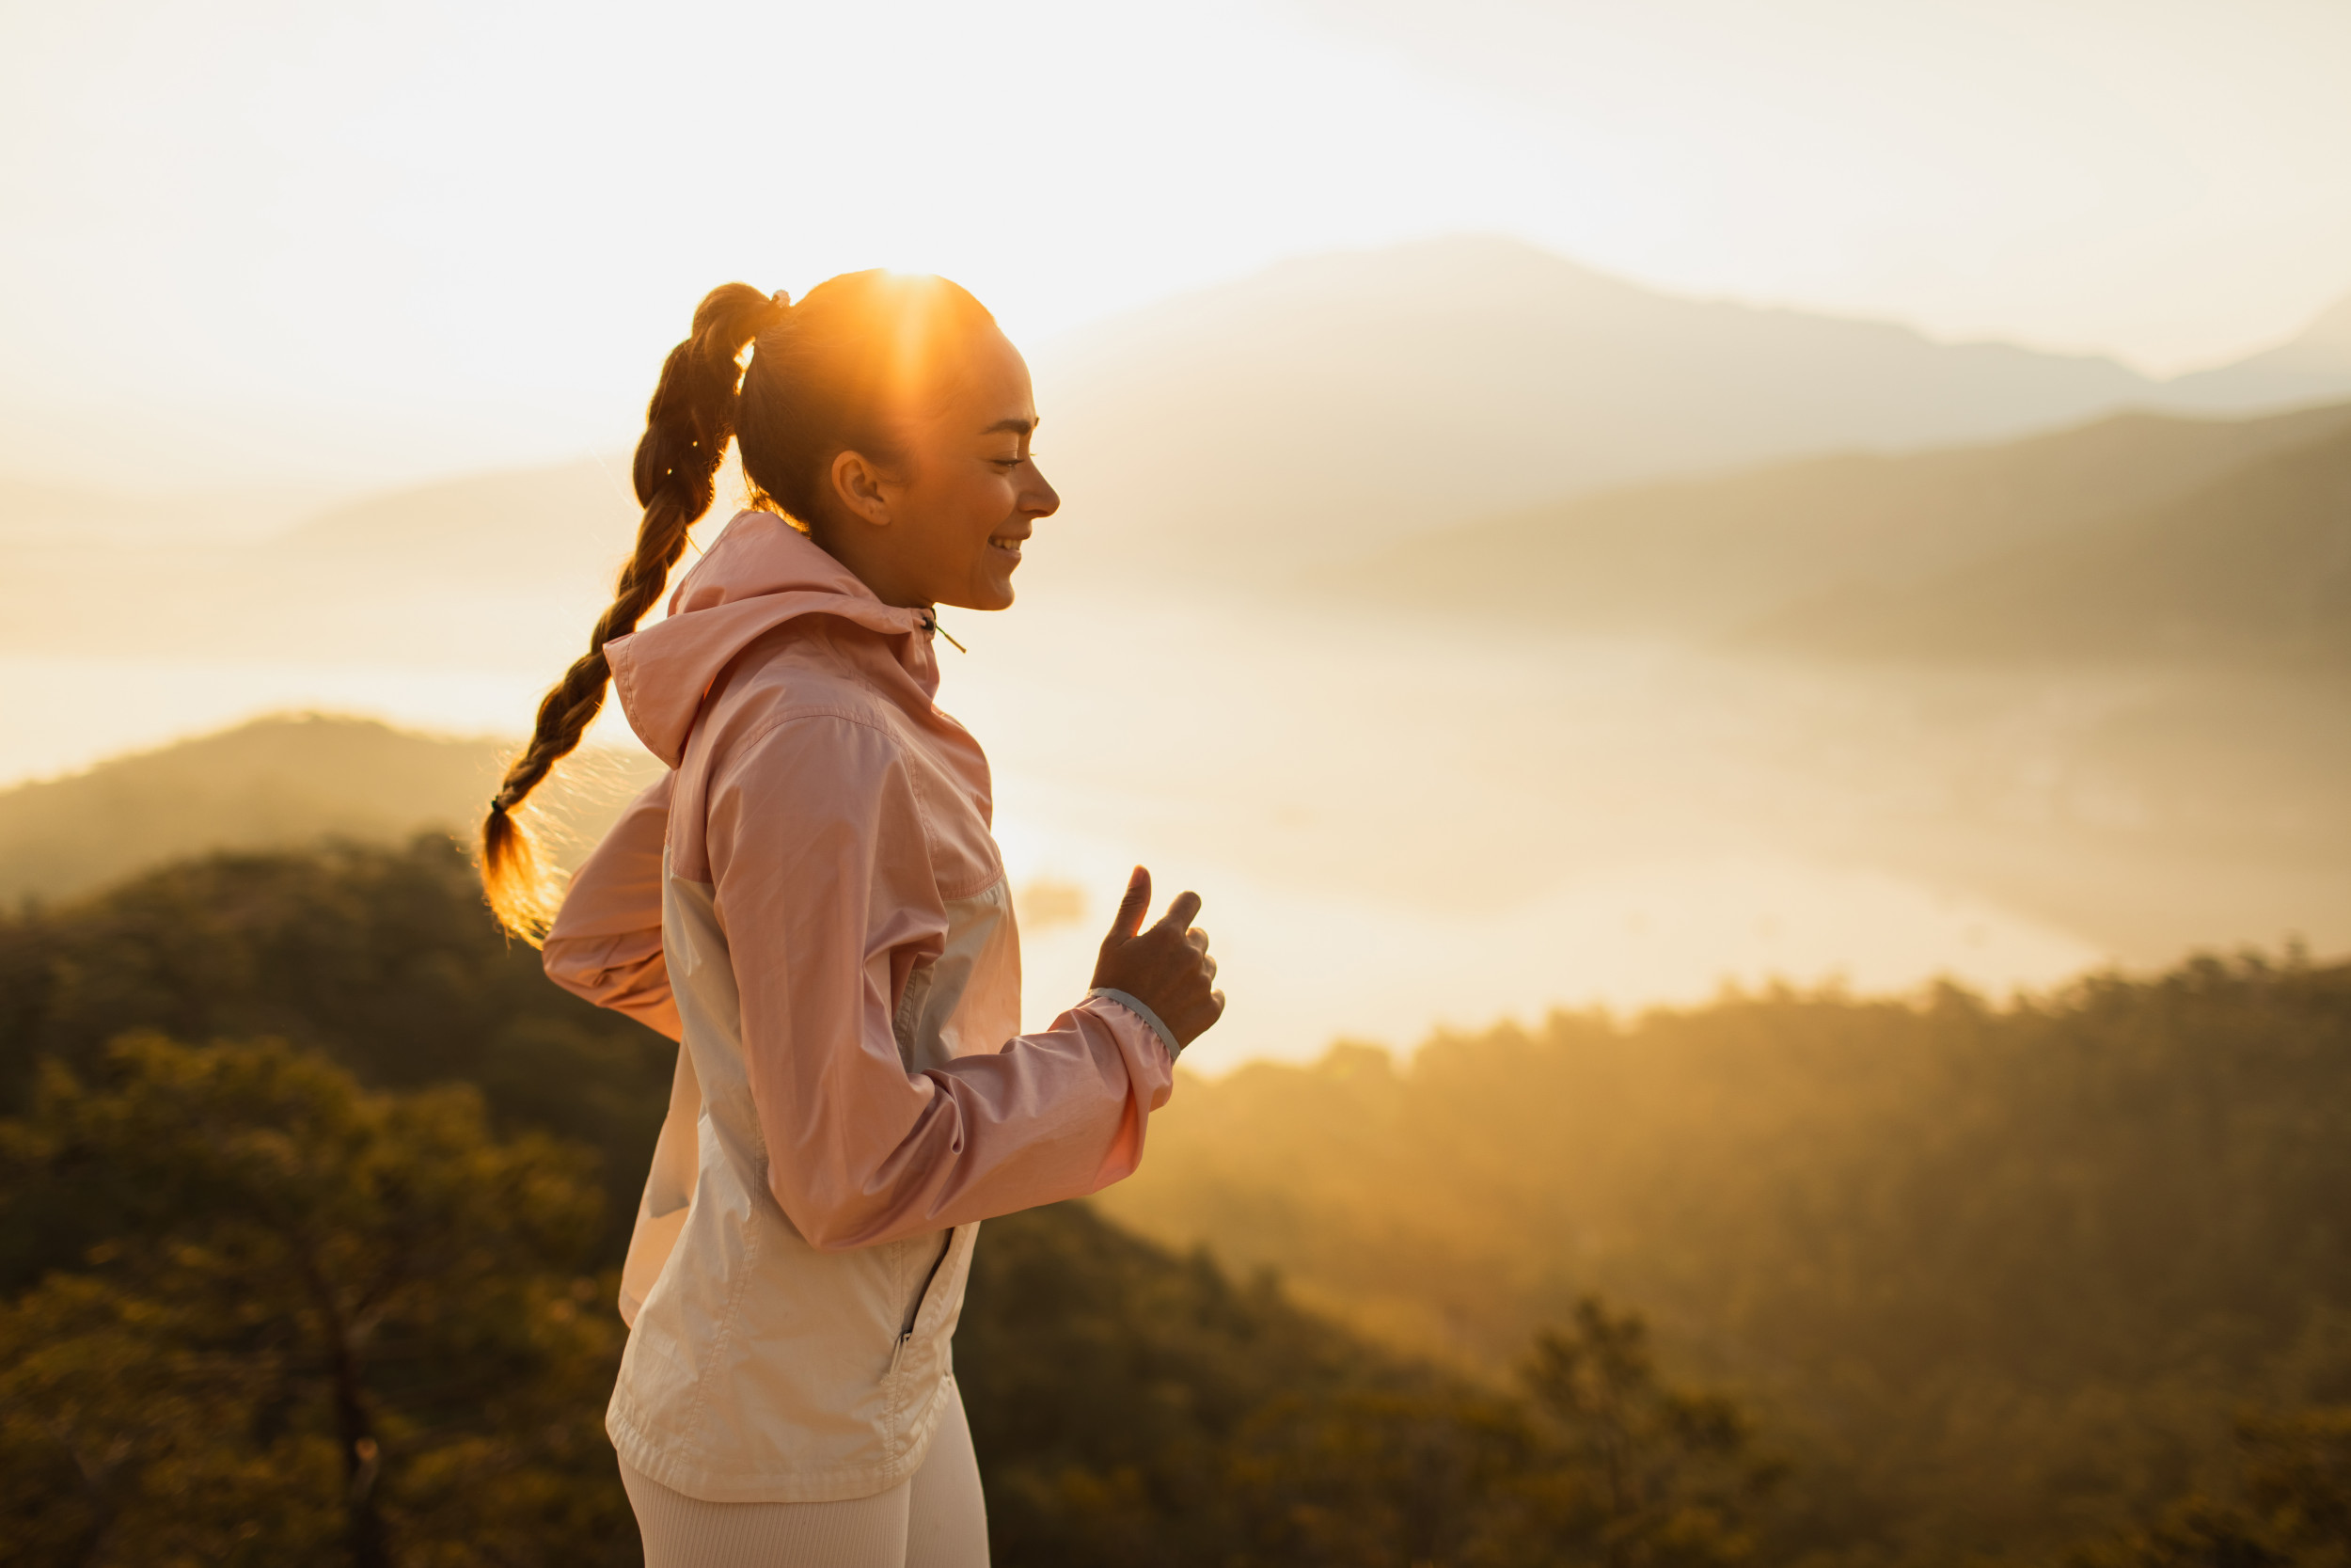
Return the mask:
[[987,1568],[987,1502],[964,1394],[947,1385],[922,1469],[846,1502],[703,1502],[621,1462],[644,1568]]

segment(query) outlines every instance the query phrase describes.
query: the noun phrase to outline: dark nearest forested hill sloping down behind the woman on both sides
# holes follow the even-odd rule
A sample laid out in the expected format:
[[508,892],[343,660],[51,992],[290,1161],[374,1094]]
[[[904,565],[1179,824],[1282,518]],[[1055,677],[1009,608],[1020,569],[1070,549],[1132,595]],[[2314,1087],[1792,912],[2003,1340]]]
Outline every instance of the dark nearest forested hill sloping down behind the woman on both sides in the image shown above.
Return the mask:
[[[670,1053],[437,835],[0,917],[0,1561],[637,1561],[600,1425]],[[1056,1206],[987,1222],[957,1380],[1004,1563],[1733,1568],[1810,1528],[1636,1316],[1531,1349],[1474,1385]]]

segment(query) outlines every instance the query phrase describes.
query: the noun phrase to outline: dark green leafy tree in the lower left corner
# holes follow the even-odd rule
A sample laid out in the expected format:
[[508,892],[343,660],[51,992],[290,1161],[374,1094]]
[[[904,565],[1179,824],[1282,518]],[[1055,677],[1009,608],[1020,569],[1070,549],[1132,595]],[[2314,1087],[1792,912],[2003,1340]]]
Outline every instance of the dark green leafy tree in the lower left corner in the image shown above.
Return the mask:
[[0,1314],[26,1561],[635,1559],[583,1152],[491,1138],[473,1088],[153,1034],[92,1084],[47,1063],[0,1147],[118,1218]]

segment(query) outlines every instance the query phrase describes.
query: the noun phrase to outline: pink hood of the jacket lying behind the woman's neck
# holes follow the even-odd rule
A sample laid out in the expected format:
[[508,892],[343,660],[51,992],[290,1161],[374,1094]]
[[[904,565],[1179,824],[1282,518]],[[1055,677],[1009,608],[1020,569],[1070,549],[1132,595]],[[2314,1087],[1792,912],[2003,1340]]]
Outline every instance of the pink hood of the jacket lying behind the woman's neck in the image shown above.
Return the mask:
[[835,616],[886,644],[924,691],[938,691],[931,616],[875,597],[842,562],[773,512],[736,512],[717,543],[670,595],[670,616],[604,644],[628,726],[672,769],[710,684],[759,637],[802,616]]

